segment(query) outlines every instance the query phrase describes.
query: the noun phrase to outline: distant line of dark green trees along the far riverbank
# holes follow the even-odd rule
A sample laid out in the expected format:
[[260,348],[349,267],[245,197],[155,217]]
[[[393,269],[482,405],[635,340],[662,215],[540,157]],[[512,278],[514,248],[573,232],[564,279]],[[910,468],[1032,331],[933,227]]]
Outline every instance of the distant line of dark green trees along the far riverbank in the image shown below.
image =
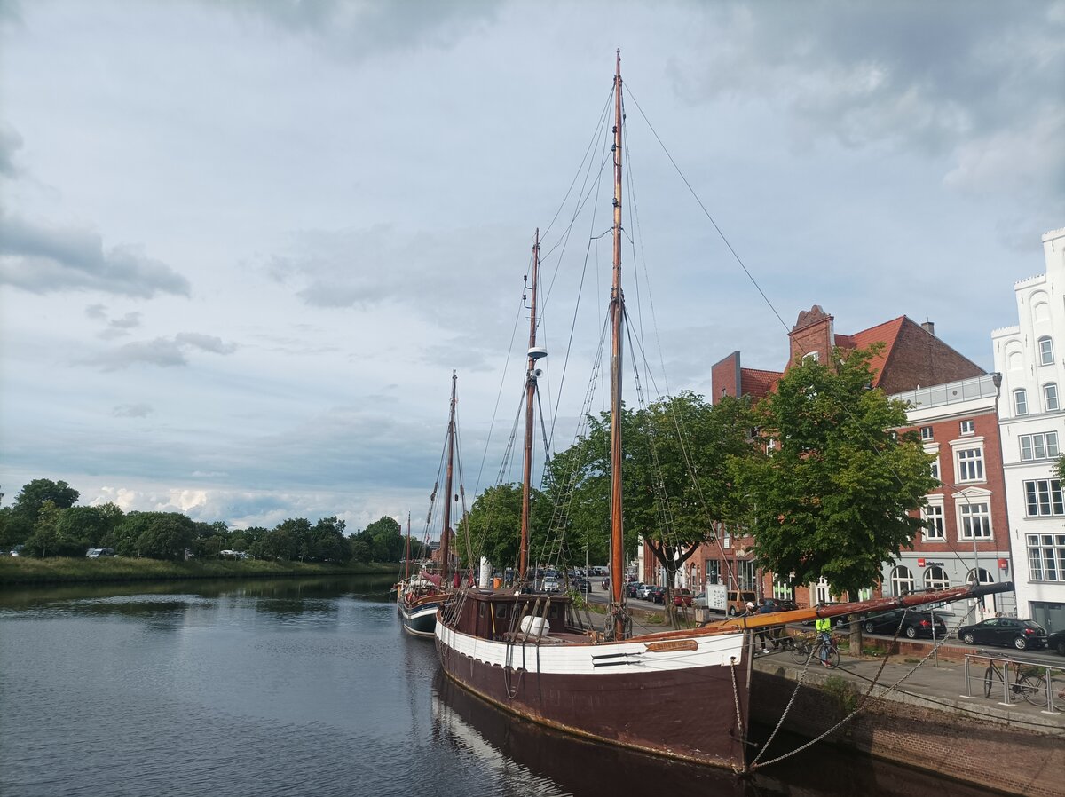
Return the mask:
[[[118,556],[181,562],[220,558],[242,551],[257,559],[283,562],[400,562],[406,538],[394,518],[382,517],[345,535],[337,517],[311,523],[290,518],[273,528],[229,528],[224,522],[194,521],[182,513],[128,511],[113,503],[78,506],[80,493],[66,482],[35,478],[10,506],[0,508],[0,551],[21,556],[84,556],[110,548]],[[0,492],[0,500],[3,493]],[[428,555],[411,540],[411,555]]]

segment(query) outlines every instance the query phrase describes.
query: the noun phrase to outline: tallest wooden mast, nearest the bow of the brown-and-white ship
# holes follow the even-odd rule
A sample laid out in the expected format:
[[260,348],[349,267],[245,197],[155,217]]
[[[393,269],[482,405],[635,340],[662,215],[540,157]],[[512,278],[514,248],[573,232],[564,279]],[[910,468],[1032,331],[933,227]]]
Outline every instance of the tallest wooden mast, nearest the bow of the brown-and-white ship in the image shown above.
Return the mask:
[[624,636],[621,614],[624,578],[621,506],[621,50],[613,77],[613,281],[610,288],[610,595],[613,603],[615,638]]

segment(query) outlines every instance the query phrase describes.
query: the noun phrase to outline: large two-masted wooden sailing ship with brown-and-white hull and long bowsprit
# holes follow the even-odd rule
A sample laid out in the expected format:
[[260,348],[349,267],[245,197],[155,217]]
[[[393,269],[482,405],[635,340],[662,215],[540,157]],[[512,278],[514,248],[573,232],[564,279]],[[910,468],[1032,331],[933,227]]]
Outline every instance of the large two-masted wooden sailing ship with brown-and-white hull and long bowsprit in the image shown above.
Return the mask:
[[527,591],[529,444],[544,349],[536,344],[539,231],[532,270],[532,320],[526,375],[526,456],[518,589],[456,592],[437,616],[443,672],[506,711],[543,726],[656,755],[744,769],[753,630],[815,617],[960,600],[993,587],[955,587],[899,598],[725,619],[691,630],[632,635],[622,590],[621,53],[615,74],[613,263],[610,347],[610,604],[602,630],[575,621],[567,595]]

